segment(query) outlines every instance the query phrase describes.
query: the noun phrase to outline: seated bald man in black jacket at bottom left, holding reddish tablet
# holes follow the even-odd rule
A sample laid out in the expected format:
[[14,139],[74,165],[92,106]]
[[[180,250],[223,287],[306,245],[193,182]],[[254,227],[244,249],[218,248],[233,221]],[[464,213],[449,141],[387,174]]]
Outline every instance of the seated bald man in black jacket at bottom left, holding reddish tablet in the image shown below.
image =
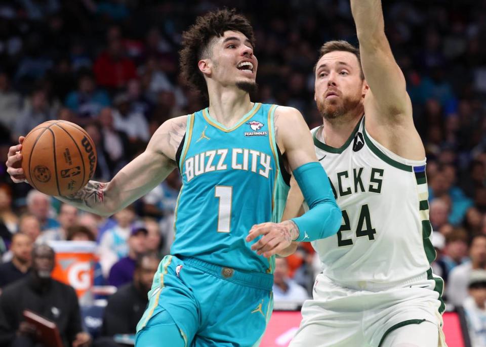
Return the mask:
[[46,244],[35,245],[32,271],[5,287],[0,296],[1,346],[38,346],[36,328],[24,321],[24,310],[55,322],[64,346],[89,346],[91,338],[82,329],[76,292],[71,286],[52,279],[53,269],[54,250]]

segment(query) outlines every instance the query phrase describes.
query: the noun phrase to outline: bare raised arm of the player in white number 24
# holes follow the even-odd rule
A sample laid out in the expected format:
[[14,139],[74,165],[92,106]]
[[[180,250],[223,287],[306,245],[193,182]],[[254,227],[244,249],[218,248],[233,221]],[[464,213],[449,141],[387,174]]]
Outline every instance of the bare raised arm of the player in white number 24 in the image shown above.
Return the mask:
[[370,91],[365,97],[366,129],[401,157],[422,160],[425,150],[415,129],[405,77],[385,36],[381,0],[350,0],[361,66]]

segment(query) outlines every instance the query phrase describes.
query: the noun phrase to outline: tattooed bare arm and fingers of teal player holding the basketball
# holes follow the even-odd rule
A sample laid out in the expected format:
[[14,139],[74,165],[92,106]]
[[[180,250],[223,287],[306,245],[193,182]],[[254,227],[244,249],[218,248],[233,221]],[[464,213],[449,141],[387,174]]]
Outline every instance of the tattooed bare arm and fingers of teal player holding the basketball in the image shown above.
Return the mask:
[[[147,194],[177,166],[177,149],[186,129],[187,116],[172,118],[162,124],[150,139],[145,151],[123,167],[110,182],[90,181],[77,193],[59,200],[99,215],[112,215]],[[8,172],[14,182],[21,182],[21,145],[11,147]],[[17,167],[17,168],[16,168]]]

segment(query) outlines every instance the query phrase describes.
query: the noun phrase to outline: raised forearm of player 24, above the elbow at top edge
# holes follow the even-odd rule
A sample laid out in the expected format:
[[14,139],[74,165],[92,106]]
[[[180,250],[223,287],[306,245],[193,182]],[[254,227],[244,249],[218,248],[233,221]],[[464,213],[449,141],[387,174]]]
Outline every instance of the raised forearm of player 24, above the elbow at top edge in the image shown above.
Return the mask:
[[360,47],[385,38],[381,0],[351,0],[351,12]]

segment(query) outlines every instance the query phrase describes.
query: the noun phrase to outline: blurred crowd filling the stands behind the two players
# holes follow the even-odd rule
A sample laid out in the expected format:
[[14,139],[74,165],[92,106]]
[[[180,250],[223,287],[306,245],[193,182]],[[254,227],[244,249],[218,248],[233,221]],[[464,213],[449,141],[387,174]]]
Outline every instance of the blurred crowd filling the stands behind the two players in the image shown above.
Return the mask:
[[[318,125],[312,68],[323,42],[357,43],[348,0],[0,0],[0,156],[37,124],[68,120],[96,144],[94,179],[109,181],[166,119],[205,107],[178,76],[179,44],[197,15],[223,6],[255,28],[253,99],[296,107],[309,127]],[[427,152],[433,268],[446,281],[447,301],[474,307],[471,317],[482,317],[476,325],[486,331],[486,277],[477,272],[486,270],[486,1],[383,7]],[[180,187],[174,171],[105,219],[12,184],[2,163],[0,287],[28,273],[33,244],[53,240],[97,242],[95,284],[131,283],[141,255],[169,252]],[[318,269],[306,243],[277,259],[275,299],[309,297]]]

